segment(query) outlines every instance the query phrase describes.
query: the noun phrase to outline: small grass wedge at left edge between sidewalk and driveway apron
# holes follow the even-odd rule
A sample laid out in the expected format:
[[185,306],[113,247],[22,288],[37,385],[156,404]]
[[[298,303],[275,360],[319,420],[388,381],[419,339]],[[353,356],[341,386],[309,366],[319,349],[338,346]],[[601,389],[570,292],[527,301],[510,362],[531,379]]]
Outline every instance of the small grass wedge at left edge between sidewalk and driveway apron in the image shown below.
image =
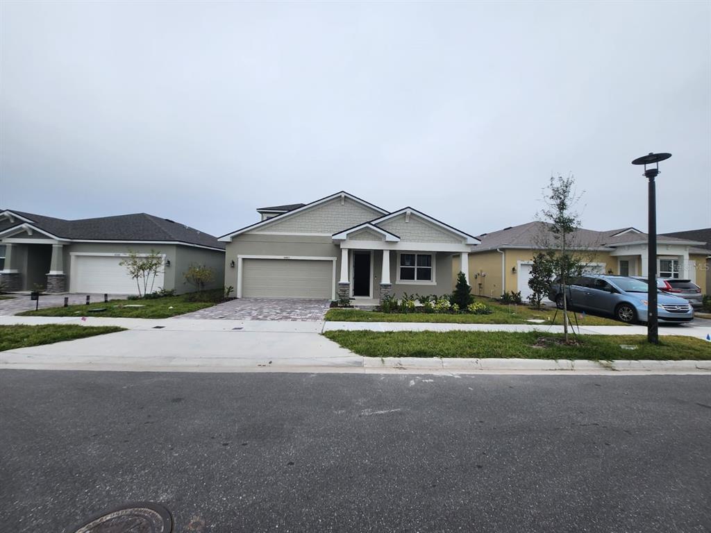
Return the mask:
[[113,325],[90,327],[73,324],[43,324],[43,325],[0,325],[0,352],[58,343],[61,340],[74,340],[105,333],[124,331]]

